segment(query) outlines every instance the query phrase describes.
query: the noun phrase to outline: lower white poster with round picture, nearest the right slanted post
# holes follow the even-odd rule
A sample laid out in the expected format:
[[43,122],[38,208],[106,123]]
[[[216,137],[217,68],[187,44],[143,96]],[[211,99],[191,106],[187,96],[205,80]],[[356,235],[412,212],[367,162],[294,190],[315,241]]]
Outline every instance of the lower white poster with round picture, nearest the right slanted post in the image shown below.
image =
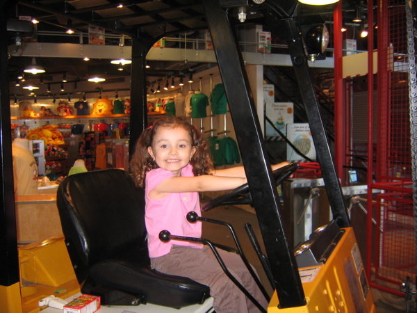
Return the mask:
[[[311,136],[308,123],[288,124],[287,138],[304,156],[311,160],[316,160],[316,148],[314,147],[313,137]],[[305,160],[298,154],[291,145],[287,144],[287,161]]]

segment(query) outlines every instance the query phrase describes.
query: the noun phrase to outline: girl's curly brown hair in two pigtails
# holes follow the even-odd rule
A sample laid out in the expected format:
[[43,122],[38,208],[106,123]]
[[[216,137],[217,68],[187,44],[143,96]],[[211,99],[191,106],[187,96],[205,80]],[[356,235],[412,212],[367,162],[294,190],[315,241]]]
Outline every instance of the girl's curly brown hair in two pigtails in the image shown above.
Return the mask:
[[213,161],[211,159],[211,153],[208,149],[208,143],[204,135],[197,127],[190,125],[183,118],[178,117],[165,117],[159,118],[154,122],[152,127],[145,129],[135,145],[135,152],[130,161],[130,170],[133,175],[133,179],[138,186],[145,187],[145,177],[149,170],[158,168],[158,165],[152,159],[147,148],[152,146],[152,140],[159,127],[183,127],[191,137],[191,145],[195,147],[195,154],[190,160],[191,166],[193,166],[193,173],[195,176],[208,175],[210,170],[213,170]]

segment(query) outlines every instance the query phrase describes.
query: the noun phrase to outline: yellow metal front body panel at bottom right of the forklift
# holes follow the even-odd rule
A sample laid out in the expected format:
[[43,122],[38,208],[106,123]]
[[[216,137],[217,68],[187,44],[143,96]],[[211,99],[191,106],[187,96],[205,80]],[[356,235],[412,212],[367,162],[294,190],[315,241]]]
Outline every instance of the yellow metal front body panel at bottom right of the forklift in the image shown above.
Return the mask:
[[354,232],[351,227],[344,230],[326,264],[299,269],[306,305],[279,309],[275,292],[268,312],[376,312]]

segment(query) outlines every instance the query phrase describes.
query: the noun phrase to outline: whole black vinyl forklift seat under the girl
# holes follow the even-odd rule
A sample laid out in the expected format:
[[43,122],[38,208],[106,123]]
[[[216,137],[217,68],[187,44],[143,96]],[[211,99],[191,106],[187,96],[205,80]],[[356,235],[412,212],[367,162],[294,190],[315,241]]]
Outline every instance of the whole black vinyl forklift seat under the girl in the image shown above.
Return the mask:
[[203,303],[210,289],[150,268],[145,191],[124,170],[66,177],[57,206],[65,243],[83,294],[103,305],[152,303],[181,308]]

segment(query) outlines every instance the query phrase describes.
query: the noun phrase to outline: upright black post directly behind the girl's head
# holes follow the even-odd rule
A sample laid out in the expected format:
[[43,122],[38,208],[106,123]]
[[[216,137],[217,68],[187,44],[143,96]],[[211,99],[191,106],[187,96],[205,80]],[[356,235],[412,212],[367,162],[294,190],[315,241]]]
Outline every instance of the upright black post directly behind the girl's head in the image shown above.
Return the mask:
[[[152,44],[151,44],[152,45]],[[134,152],[135,143],[143,129],[147,127],[147,96],[146,96],[146,55],[149,51],[148,40],[132,39],[131,65],[131,113],[129,156]]]

